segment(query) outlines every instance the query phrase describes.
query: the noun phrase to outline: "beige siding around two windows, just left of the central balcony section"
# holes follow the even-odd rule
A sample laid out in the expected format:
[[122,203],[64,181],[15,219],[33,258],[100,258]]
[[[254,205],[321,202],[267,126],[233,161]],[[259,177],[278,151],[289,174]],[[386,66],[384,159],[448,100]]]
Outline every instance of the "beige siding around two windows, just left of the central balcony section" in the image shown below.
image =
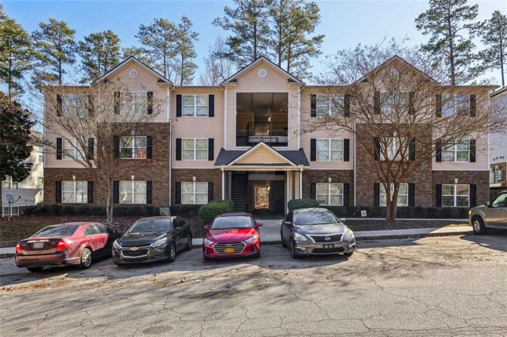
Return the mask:
[[[214,95],[214,117],[176,117],[176,95]],[[172,168],[213,168],[224,146],[224,91],[219,88],[176,88],[171,91]],[[213,138],[213,160],[176,160],[176,138]]]

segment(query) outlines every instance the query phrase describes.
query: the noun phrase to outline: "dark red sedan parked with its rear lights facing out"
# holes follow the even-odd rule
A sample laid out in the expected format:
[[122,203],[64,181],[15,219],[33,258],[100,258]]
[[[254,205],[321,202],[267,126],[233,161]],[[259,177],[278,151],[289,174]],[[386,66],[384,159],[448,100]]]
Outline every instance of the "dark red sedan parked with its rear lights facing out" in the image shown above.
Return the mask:
[[31,272],[44,267],[91,266],[98,257],[111,254],[115,230],[97,222],[73,222],[44,227],[16,245],[16,266]]

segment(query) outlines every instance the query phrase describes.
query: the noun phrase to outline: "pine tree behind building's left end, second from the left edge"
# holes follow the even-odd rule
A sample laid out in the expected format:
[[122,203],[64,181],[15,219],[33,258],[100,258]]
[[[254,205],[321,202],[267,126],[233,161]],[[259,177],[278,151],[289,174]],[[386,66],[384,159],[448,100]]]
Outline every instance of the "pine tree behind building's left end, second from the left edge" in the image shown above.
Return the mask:
[[61,86],[64,66],[76,62],[76,30],[53,18],[49,19],[49,23],[39,23],[39,27],[40,30],[34,31],[32,37],[35,50],[39,52],[41,68],[34,71],[32,79],[36,84],[57,83]]

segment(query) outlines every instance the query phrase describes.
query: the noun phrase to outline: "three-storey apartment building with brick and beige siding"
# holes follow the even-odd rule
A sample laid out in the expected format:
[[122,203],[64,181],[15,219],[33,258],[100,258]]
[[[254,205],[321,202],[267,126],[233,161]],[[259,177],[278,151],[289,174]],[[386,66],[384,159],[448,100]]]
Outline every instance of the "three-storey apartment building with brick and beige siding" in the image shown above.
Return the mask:
[[[156,118],[138,135],[130,135],[134,138],[126,153],[142,155],[121,159],[115,203],[168,206],[232,199],[238,211],[274,213],[284,213],[287,202],[295,198],[316,198],[322,205],[383,205],[385,191],[373,173],[374,159],[353,134],[302,132],[305,123],[333,109],[322,87],[307,86],[265,57],[216,87],[174,86],[134,57],[104,79],[142,84],[146,92],[128,95],[148,105],[150,97],[162,102],[153,111]],[[443,109],[455,113],[464,106],[470,116],[487,113],[488,104],[476,106],[475,95],[489,95],[492,88],[443,87],[443,94],[454,102]],[[342,89],[328,89],[347,102]],[[427,137],[431,140],[431,130]],[[59,138],[46,133],[49,141],[58,143]],[[371,144],[376,146],[373,137]],[[414,153],[421,144],[414,143]],[[73,145],[62,147],[71,150]],[[404,182],[400,206],[468,207],[487,201],[488,151],[487,138],[441,151]],[[93,197],[96,187],[89,183],[87,171],[57,152],[49,153],[45,162],[45,202],[100,202]]]

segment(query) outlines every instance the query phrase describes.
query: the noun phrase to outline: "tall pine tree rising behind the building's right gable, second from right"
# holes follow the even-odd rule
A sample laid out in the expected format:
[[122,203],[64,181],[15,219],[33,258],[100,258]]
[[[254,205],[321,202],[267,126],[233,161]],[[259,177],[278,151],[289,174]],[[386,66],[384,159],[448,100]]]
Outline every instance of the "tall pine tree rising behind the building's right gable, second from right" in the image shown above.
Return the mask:
[[477,59],[472,37],[480,26],[474,22],[479,6],[467,6],[466,0],[429,0],[429,6],[415,20],[417,29],[430,35],[422,50],[433,55],[436,63],[445,60],[451,85],[464,83]]

